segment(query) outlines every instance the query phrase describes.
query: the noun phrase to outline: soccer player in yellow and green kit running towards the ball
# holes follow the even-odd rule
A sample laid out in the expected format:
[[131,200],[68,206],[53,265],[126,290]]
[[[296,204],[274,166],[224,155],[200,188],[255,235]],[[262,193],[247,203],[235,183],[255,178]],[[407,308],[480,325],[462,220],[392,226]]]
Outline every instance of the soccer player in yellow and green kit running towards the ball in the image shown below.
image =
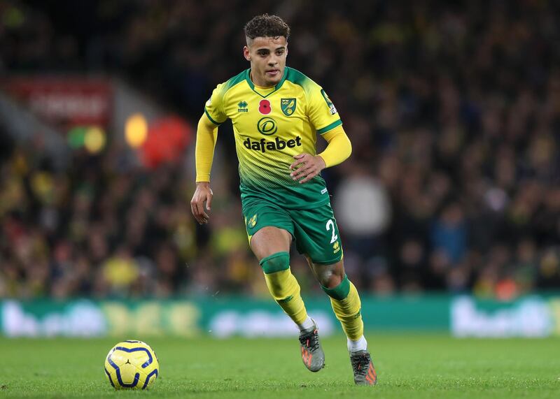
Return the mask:
[[[218,126],[232,119],[249,245],[272,297],[300,328],[304,365],[313,372],[321,370],[325,354],[318,327],[307,315],[300,285],[290,272],[291,242],[330,296],[348,338],[354,382],[374,385],[377,374],[363,336],[360,297],[344,273],[338,227],[320,175],[323,168],[350,156],[350,140],[321,86],[286,66],[286,22],[276,15],[258,15],[244,31],[243,55],[251,68],[214,89],[198,122],[193,215],[200,224],[209,220]],[[317,133],[328,142],[318,155]]]

